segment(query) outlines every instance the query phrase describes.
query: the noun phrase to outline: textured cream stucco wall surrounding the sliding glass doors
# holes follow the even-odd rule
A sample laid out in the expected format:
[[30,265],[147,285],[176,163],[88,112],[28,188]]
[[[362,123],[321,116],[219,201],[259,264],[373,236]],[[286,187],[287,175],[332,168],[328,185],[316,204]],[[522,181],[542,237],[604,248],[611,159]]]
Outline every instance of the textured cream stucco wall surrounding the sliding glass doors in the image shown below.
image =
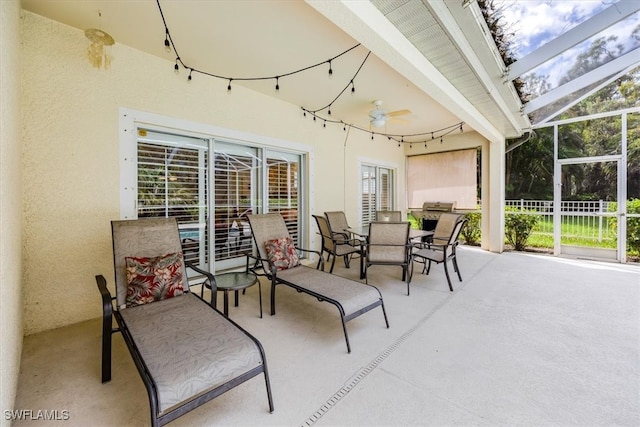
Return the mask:
[[297,105],[240,85],[227,94],[226,82],[203,76],[188,83],[172,61],[118,43],[111,68],[97,70],[85,57],[82,31],[23,13],[27,334],[100,316],[94,275],[111,277],[113,269],[120,107],[313,146],[311,213],[344,209],[357,220],[362,153],[396,163],[404,194],[404,153],[396,145],[352,132],[345,148],[341,127],[314,124]]

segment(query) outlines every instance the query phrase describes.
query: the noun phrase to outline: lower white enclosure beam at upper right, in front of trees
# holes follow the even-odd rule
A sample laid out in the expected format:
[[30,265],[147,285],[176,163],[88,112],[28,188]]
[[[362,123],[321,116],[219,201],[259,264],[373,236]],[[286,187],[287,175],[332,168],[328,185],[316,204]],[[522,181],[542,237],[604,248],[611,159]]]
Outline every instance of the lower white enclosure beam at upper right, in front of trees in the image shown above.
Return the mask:
[[[640,63],[640,55],[638,55],[637,48],[628,52],[600,67],[596,68],[593,71],[589,71],[582,76],[571,80],[568,83],[563,84],[562,86],[558,86],[557,88],[545,93],[544,95],[540,95],[539,97],[527,102],[524,106],[525,113],[531,113],[533,111],[539,110],[560,98],[568,96],[580,89],[583,89],[593,83],[596,83],[604,78],[607,78],[613,74],[617,74],[622,70],[626,70],[629,67],[637,66]],[[593,93],[590,91],[589,94]]]

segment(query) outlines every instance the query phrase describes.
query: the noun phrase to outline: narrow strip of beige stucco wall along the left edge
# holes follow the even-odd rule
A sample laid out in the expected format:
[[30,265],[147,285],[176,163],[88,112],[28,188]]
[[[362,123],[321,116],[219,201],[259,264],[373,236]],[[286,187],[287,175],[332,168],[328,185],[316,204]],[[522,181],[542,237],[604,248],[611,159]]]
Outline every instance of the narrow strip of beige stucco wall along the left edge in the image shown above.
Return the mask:
[[[12,409],[22,352],[20,2],[0,1],[0,410]],[[0,426],[10,425],[5,417]]]

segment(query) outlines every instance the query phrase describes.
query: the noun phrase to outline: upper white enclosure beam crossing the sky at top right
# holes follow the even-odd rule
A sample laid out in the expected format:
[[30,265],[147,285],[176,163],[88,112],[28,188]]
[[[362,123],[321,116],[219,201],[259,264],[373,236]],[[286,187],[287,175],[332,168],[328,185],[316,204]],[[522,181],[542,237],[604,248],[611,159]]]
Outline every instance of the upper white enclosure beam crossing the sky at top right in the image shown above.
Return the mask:
[[640,1],[620,0],[618,3],[592,16],[583,23],[511,64],[507,78],[514,80],[530,72],[540,64],[544,64],[551,58],[558,56],[589,37],[598,34],[616,22],[636,13],[638,10],[640,10]]

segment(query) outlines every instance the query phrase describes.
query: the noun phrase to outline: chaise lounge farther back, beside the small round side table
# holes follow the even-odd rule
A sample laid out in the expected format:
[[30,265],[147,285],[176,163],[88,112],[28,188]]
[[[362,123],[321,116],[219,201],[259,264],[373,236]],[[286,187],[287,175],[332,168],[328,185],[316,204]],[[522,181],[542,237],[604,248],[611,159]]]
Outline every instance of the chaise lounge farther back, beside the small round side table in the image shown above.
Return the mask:
[[[285,285],[311,295],[318,301],[326,301],[336,306],[340,313],[348,353],[351,353],[346,326],[349,320],[380,307],[385,324],[389,328],[382,295],[377,288],[325,272],[320,252],[294,246],[282,215],[269,213],[248,215],[248,218],[258,256],[247,256],[255,259],[252,271],[271,280],[271,315],[276,314],[276,287]],[[301,264],[298,251],[318,255],[317,267]]]

